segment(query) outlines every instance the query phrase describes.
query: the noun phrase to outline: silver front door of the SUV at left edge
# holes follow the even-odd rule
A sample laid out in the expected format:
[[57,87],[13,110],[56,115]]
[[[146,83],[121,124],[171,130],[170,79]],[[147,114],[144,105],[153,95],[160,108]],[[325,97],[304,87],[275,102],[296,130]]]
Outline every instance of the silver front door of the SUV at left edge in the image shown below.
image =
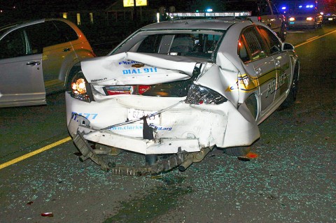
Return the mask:
[[32,53],[25,30],[3,36],[0,49],[0,107],[44,104],[42,54]]

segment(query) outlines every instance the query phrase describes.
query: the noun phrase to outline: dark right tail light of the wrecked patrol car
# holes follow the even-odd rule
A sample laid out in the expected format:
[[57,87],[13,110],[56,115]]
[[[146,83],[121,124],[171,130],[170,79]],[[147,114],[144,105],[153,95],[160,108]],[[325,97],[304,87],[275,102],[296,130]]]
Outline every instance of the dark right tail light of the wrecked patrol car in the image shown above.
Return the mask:
[[186,101],[187,103],[200,105],[202,103],[220,104],[228,101],[228,99],[208,87],[191,85]]

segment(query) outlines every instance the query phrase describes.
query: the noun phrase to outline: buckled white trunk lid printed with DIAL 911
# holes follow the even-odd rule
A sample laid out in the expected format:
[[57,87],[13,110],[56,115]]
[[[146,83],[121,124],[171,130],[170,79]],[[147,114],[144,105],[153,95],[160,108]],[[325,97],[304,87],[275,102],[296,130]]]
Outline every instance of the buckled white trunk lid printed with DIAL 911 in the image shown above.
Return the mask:
[[81,62],[85,78],[92,85],[155,85],[188,80],[196,64],[207,59],[161,54],[122,52]]

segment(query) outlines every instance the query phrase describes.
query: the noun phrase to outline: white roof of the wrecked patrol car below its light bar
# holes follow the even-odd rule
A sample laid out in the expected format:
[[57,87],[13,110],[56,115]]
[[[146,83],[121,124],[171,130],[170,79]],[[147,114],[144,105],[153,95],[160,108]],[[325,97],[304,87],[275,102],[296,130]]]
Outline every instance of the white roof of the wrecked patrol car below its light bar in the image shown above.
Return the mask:
[[[158,29],[221,29],[227,30],[233,24],[240,22],[250,22],[249,20],[241,20],[238,18],[222,18],[222,19],[188,19],[173,20],[149,24],[141,28],[141,31],[158,30]],[[252,24],[252,22],[250,22]]]

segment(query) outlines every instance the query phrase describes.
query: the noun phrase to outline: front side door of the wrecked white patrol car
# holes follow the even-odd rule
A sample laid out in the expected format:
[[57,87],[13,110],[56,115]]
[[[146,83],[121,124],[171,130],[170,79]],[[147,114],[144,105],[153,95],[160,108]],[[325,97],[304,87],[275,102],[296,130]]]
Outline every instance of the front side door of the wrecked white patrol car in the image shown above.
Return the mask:
[[[276,81],[272,84],[272,94],[274,92],[274,101],[279,101],[286,97],[286,92],[290,87],[291,63],[287,52],[281,51],[281,42],[279,39],[265,27],[258,27],[260,34],[267,44],[269,55],[273,57],[276,67]],[[274,87],[275,86],[275,87]]]

